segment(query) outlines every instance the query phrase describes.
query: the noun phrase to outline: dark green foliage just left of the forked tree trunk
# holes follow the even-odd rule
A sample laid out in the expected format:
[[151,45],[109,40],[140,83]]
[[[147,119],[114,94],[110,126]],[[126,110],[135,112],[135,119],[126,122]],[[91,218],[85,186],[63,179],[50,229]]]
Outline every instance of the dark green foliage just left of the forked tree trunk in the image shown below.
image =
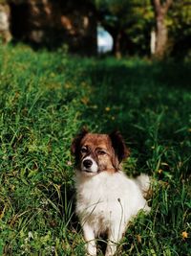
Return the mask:
[[154,13],[150,0],[96,0],[99,21],[114,38],[114,54],[149,53]]

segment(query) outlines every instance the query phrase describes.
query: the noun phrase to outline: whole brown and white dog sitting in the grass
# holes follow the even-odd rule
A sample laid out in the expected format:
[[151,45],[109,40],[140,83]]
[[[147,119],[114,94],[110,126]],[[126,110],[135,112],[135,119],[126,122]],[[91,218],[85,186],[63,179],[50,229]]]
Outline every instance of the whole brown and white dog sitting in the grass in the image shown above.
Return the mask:
[[119,131],[90,133],[83,129],[71,147],[75,159],[76,214],[83,229],[87,254],[96,256],[96,238],[108,237],[105,256],[117,251],[127,224],[139,210],[150,211],[144,198],[148,175],[128,178],[121,162],[129,155]]

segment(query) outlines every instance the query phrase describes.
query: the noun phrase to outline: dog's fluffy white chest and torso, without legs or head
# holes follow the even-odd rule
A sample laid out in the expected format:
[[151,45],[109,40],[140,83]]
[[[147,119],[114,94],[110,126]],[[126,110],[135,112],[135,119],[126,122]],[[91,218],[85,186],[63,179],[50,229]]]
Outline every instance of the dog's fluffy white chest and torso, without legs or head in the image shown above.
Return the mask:
[[101,173],[78,181],[76,212],[82,222],[90,222],[97,232],[100,226],[105,230],[119,219],[125,224],[145,203],[138,186],[121,173]]

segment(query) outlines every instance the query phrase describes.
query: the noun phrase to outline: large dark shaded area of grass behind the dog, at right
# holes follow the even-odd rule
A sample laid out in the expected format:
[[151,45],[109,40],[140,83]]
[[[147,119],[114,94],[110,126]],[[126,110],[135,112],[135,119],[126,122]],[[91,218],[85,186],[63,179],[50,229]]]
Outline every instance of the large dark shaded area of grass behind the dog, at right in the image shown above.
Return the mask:
[[119,129],[138,157],[138,166],[145,163],[155,145],[177,147],[188,157],[188,63],[117,62],[111,58],[89,66],[86,75],[92,78],[93,89],[83,115],[85,125],[106,133]]

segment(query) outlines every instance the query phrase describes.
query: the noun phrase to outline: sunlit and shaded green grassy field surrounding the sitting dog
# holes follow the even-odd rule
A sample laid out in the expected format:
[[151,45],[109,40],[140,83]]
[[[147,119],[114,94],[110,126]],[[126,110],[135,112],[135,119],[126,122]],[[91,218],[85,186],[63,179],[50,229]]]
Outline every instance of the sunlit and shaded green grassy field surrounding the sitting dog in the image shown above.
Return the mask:
[[[119,129],[128,175],[153,178],[152,211],[117,255],[191,255],[191,66],[0,47],[0,255],[84,255],[74,134]],[[100,250],[100,254],[101,250]]]

